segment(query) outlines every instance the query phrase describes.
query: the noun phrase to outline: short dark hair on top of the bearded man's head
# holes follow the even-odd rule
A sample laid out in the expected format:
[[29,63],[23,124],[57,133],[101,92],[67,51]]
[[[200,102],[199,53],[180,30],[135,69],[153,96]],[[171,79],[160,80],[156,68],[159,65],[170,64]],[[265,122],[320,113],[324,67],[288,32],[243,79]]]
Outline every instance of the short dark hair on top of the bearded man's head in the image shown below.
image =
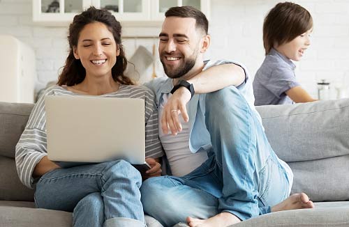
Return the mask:
[[205,35],[209,31],[209,21],[205,14],[193,6],[175,6],[169,8],[165,13],[165,17],[191,17],[195,19],[196,29],[202,29]]

